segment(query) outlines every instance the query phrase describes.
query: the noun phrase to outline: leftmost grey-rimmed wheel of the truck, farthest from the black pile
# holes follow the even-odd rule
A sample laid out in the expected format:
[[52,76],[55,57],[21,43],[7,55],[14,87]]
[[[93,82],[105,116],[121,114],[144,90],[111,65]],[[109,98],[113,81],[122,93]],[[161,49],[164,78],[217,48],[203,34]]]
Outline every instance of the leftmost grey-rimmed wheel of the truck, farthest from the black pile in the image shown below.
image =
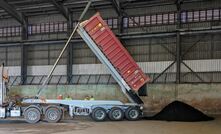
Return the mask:
[[35,107],[30,107],[25,110],[24,118],[28,123],[38,123],[41,120],[41,112]]

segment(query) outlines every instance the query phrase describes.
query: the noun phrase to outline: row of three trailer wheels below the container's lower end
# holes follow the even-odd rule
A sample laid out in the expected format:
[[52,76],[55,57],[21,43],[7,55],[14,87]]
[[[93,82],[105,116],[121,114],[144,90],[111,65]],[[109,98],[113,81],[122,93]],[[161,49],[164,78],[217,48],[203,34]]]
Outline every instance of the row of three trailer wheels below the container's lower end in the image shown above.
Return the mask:
[[102,107],[97,107],[93,109],[91,118],[95,121],[104,121],[107,117],[109,117],[112,121],[120,121],[123,120],[124,117],[127,120],[134,121],[138,120],[141,115],[141,112],[136,107],[129,107],[125,111],[119,107],[113,107],[109,112]]

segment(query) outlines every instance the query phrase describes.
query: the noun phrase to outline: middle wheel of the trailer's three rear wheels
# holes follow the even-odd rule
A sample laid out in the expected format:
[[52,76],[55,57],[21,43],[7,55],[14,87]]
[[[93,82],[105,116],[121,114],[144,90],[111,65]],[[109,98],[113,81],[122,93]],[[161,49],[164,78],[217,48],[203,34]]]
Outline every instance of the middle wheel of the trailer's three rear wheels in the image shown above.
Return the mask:
[[120,120],[123,120],[124,118],[124,111],[119,107],[113,107],[109,111],[108,116],[109,116],[109,119],[112,121],[120,121]]

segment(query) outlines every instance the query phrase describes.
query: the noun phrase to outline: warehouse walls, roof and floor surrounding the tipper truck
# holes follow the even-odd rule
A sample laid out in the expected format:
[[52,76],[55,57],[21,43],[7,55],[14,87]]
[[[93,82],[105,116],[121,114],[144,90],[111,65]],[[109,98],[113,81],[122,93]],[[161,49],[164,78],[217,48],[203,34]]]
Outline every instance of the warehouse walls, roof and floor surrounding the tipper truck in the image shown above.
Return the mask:
[[[4,63],[8,71],[10,95],[37,94],[87,3],[88,0],[0,0],[0,63]],[[122,121],[117,122],[118,126],[122,125],[120,130],[114,126],[116,122],[97,124],[88,119],[37,125],[47,133],[99,133],[96,129],[102,127],[107,133],[148,133],[148,130],[149,133],[178,133],[183,129],[182,134],[210,131],[218,134],[221,124],[220,7],[220,0],[92,0],[83,18],[87,20],[99,12],[150,77],[138,92],[146,115],[159,113],[178,100],[215,116],[214,121],[195,124]],[[47,99],[56,99],[59,95],[76,100],[92,95],[96,100],[128,102],[106,66],[77,33],[42,92]],[[12,126],[5,129],[10,124],[17,129],[11,131]],[[25,131],[23,125],[20,120],[0,121],[0,129],[5,132],[40,132],[35,125],[28,125],[30,130]],[[52,131],[54,126],[59,130]],[[126,130],[129,127],[134,129]]]

